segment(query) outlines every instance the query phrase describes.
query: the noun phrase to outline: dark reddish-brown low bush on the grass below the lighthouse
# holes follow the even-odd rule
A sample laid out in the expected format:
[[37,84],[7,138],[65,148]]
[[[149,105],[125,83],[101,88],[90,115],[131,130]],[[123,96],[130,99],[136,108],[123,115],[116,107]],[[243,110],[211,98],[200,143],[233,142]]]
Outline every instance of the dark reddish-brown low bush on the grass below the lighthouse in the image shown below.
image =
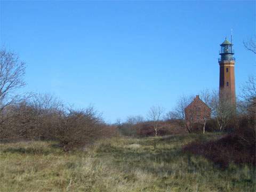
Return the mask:
[[188,153],[203,155],[221,167],[230,163],[255,166],[255,128],[243,127],[217,141],[195,141],[183,148]]

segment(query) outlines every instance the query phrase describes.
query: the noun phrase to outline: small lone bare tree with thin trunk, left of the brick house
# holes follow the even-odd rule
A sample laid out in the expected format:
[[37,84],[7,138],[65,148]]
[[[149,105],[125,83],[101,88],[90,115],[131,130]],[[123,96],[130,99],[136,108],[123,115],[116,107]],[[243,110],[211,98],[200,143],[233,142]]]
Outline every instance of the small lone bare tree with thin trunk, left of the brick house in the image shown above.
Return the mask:
[[154,123],[155,137],[157,137],[157,132],[159,130],[159,121],[161,121],[164,113],[164,108],[160,106],[153,106],[148,111],[148,119]]

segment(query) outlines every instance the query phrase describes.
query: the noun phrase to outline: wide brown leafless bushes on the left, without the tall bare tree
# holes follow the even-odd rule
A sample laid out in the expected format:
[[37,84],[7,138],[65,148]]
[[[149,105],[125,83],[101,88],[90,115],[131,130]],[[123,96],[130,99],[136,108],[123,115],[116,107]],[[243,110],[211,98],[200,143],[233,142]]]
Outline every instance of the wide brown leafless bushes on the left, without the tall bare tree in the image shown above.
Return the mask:
[[93,107],[65,109],[49,94],[15,103],[3,116],[0,141],[58,140],[66,151],[117,133],[116,126],[107,126]]

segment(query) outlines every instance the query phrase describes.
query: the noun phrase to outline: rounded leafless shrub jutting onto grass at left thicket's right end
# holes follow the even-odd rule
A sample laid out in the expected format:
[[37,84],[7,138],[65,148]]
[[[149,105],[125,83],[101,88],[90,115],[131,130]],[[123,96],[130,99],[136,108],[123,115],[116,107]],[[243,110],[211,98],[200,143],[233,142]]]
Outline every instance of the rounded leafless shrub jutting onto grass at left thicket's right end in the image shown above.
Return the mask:
[[56,137],[65,150],[91,143],[101,137],[105,123],[93,107],[68,109],[61,119]]

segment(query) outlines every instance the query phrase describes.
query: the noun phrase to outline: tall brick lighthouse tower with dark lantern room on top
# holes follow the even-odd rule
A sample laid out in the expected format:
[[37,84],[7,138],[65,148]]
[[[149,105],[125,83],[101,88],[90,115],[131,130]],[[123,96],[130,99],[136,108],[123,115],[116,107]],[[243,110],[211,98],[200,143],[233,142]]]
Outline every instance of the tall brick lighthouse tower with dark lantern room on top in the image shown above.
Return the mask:
[[232,36],[231,43],[226,38],[220,47],[220,101],[230,101],[235,105],[235,58],[233,57]]

